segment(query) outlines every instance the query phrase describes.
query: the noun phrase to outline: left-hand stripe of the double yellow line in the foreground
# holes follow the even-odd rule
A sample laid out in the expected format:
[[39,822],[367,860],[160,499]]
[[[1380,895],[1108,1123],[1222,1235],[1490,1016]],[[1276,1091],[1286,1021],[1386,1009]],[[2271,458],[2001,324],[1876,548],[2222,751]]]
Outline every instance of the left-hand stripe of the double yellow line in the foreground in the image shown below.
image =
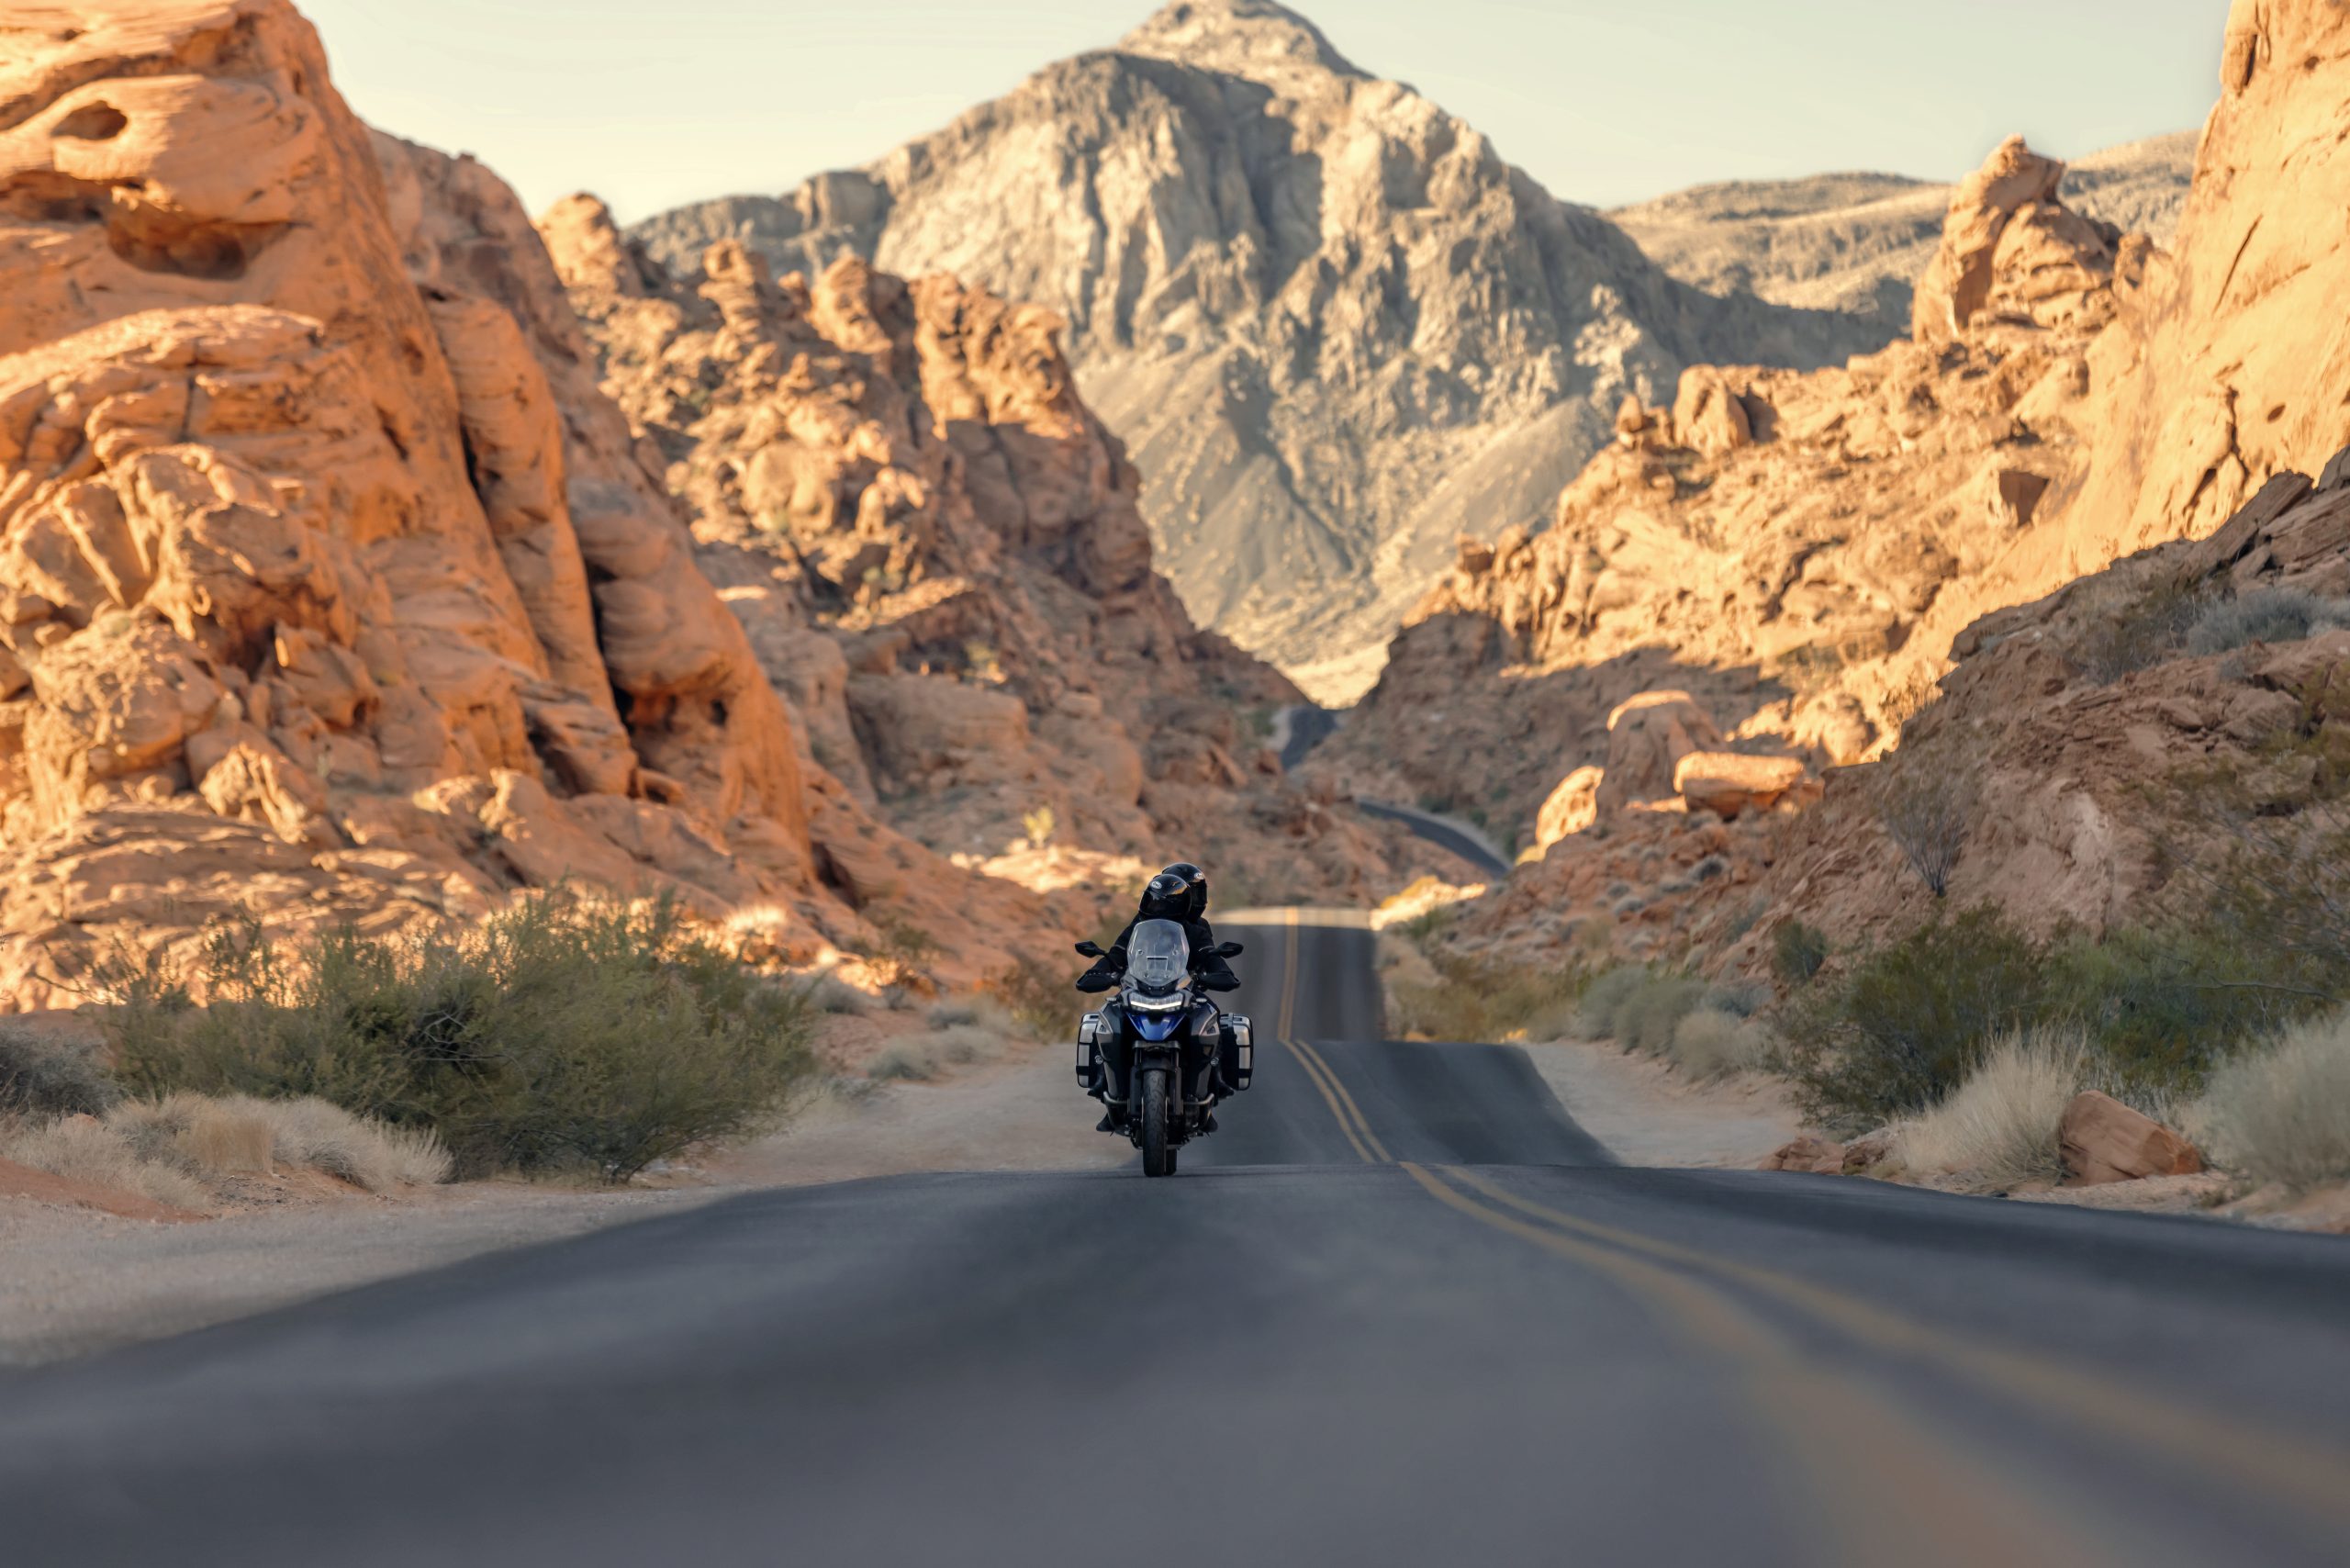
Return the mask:
[[[1725,1359],[1772,1455],[1798,1467],[1845,1563],[2103,1563],[2113,1554],[2066,1516],[2009,1486],[1972,1455],[1849,1375],[1819,1366],[1716,1286],[1610,1246],[1530,1225],[1457,1192],[1405,1159],[1403,1171],[1445,1208],[1584,1265],[1647,1302],[1687,1340]],[[1445,1178],[1459,1171],[1445,1168]]]

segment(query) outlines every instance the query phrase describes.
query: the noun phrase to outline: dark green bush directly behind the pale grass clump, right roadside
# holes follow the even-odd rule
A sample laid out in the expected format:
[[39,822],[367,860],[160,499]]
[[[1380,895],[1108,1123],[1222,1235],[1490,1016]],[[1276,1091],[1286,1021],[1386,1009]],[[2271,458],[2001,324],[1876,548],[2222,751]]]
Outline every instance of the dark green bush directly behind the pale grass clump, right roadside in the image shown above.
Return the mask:
[[1831,1124],[1913,1117],[1965,1081],[1981,1041],[2040,1020],[2047,954],[1993,907],[1936,914],[1781,1009],[1788,1072]]

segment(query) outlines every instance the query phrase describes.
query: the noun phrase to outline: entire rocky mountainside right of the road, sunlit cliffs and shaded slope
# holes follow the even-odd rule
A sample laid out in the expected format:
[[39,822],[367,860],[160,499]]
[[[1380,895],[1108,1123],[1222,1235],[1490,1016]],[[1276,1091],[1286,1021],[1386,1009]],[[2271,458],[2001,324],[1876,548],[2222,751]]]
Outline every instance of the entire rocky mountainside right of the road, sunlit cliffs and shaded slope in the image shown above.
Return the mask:
[[[2235,7],[2169,249],[2113,244],[2009,143],[1953,200],[1908,343],[1767,386],[1730,374],[1727,400],[1690,371],[1664,425],[1636,411],[1577,480],[1556,543],[1464,552],[1398,639],[1386,679],[1415,684],[1382,686],[1316,766],[1375,773],[1394,748],[1422,778],[1436,752],[1492,752],[1518,766],[1497,773],[1520,780],[1497,790],[1511,811],[1544,769],[1560,780],[1518,818],[1525,863],[1457,905],[1466,950],[1739,969],[1788,919],[1866,943],[1939,907],[1896,832],[1932,851],[1950,905],[2037,929],[2143,922],[2209,893],[2183,867],[2247,851],[2303,879],[2280,896],[2338,898],[2315,860],[2341,835],[2350,367],[2305,324],[2350,294],[2324,221],[2350,200],[2345,101],[2341,7]],[[1817,491],[1791,548],[1734,550],[1758,527],[1739,498],[1772,489]],[[1685,592],[1643,567],[1708,520],[1725,527]],[[1882,639],[1774,661],[1774,625],[1868,604]],[[1626,607],[1666,628],[1650,668],[1610,630]],[[1438,689],[1445,731],[1415,741]],[[1551,748],[1553,726],[1579,741]],[[1713,748],[1871,762],[1774,804],[1711,785],[1730,771]]]

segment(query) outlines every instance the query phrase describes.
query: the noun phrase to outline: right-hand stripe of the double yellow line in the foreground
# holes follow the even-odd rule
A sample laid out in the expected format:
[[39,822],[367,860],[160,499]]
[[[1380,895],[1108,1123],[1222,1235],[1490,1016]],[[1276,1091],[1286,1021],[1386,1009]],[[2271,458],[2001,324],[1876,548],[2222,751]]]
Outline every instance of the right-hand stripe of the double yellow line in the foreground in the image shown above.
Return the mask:
[[1659,1241],[1633,1229],[1600,1225],[1598,1220],[1584,1220],[1582,1215],[1523,1199],[1457,1166],[1445,1166],[1445,1175],[1549,1225],[1734,1279],[1791,1307],[1800,1307],[1878,1349],[1936,1361],[1950,1373],[1986,1382],[2012,1399],[2108,1436],[2127,1439],[2138,1448],[2153,1448],[2195,1472],[2225,1472],[2240,1486],[2282,1497],[2319,1519],[2350,1523],[2350,1453],[2331,1448],[2324,1441],[2249,1427],[2225,1415],[2141,1394],[2063,1361],[1932,1328],[1807,1279],[1718,1258],[1676,1241]]

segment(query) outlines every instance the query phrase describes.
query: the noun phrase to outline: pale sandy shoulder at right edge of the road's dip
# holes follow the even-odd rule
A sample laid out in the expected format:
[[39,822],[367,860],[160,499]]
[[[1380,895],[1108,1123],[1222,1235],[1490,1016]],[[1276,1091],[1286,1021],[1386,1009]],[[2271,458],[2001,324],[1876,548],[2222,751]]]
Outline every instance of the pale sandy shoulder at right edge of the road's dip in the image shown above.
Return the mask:
[[1563,1039],[1525,1053],[1567,1114],[1626,1166],[1751,1171],[1800,1131],[1795,1105],[1772,1079],[1692,1084],[1612,1041]]

